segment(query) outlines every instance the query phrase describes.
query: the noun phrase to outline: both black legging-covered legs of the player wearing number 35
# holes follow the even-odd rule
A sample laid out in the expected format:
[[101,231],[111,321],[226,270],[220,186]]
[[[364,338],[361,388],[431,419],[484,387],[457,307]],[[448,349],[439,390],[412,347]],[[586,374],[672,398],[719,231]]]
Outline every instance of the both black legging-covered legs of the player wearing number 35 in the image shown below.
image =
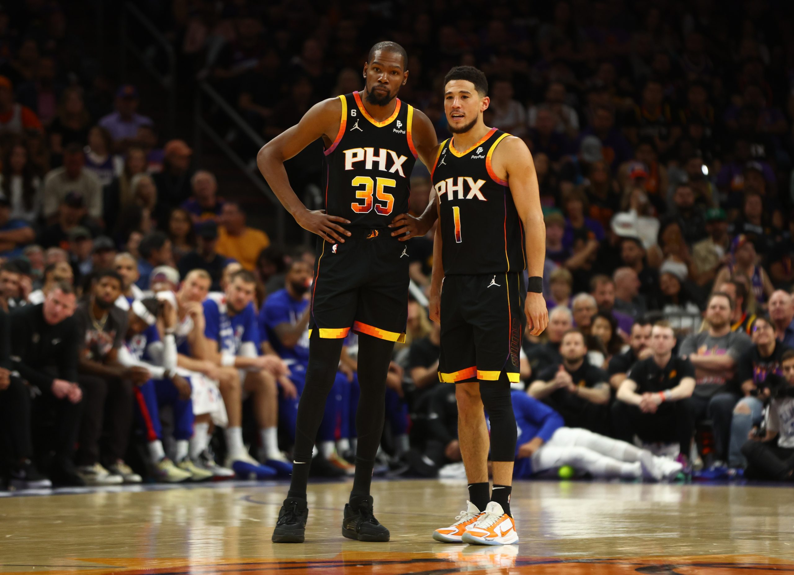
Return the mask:
[[[309,340],[306,385],[298,404],[295,424],[295,454],[289,496],[306,497],[311,452],[326,409],[326,400],[336,378],[344,339]],[[358,378],[361,388],[356,416],[358,432],[357,469],[353,492],[369,493],[372,467],[384,428],[386,375],[394,343],[371,335],[359,336]]]

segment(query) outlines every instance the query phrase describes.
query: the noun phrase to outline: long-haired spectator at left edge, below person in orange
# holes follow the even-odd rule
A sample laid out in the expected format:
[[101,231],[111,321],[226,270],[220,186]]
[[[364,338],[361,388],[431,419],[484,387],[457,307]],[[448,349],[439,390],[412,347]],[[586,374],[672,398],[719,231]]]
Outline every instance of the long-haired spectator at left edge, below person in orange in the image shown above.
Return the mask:
[[10,201],[10,219],[35,224],[41,209],[41,180],[28,158],[24,141],[12,144],[2,160],[0,194]]

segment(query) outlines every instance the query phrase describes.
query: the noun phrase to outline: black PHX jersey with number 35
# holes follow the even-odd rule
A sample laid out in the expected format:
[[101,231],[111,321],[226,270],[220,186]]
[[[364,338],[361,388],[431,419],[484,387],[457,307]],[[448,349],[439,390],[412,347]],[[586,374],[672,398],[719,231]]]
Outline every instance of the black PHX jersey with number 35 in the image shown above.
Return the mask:
[[410,136],[414,108],[397,98],[391,117],[367,113],[358,92],[340,96],[337,137],[326,154],[326,213],[351,224],[385,228],[407,213],[416,149]]

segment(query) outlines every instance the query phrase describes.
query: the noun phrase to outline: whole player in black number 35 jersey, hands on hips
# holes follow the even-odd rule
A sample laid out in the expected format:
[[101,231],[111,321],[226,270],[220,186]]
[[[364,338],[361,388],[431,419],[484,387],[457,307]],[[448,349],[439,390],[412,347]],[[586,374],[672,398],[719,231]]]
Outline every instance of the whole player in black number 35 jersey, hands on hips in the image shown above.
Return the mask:
[[[376,44],[364,64],[363,91],[314,105],[298,125],[265,144],[257,156],[279,201],[301,227],[320,236],[292,481],[273,542],[304,540],[312,448],[350,329],[360,336],[361,395],[356,474],[342,535],[359,541],[389,540],[389,531],[372,514],[369,489],[384,425],[391,351],[396,341],[404,340],[407,321],[409,258],[406,244],[396,236],[426,231],[436,217],[434,206],[422,218],[406,215],[414,162],[419,158],[431,166],[437,147],[430,120],[397,98],[408,80],[406,64],[407,54],[399,44]],[[310,211],[292,190],[283,163],[318,138],[326,148],[326,209]]]

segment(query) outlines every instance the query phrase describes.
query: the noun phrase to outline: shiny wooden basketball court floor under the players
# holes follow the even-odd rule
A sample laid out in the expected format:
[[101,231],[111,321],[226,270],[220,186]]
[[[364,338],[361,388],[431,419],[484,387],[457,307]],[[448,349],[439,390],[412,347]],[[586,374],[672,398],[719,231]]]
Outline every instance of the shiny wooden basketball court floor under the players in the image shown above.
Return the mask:
[[285,484],[0,497],[0,573],[794,573],[794,491],[742,485],[519,482],[520,544],[430,538],[461,481],[376,481],[391,542],[341,537],[349,483],[310,485],[303,545],[270,541]]

